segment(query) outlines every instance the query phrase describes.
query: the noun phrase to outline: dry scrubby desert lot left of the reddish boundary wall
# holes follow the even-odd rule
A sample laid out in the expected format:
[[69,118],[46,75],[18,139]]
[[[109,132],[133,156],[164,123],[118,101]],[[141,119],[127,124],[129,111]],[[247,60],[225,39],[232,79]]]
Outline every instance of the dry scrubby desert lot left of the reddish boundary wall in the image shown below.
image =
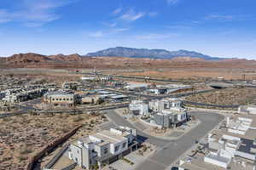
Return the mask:
[[[78,124],[79,133],[92,133],[106,121],[102,116],[12,116],[0,120],[0,169],[24,169],[31,156]],[[75,137],[73,137],[75,138]]]

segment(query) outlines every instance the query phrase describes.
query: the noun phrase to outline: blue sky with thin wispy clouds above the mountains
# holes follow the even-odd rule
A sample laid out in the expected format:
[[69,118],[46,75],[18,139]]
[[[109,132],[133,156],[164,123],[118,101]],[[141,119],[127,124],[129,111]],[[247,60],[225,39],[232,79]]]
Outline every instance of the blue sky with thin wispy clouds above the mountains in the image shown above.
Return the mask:
[[0,56],[102,48],[256,59],[255,0],[1,0]]

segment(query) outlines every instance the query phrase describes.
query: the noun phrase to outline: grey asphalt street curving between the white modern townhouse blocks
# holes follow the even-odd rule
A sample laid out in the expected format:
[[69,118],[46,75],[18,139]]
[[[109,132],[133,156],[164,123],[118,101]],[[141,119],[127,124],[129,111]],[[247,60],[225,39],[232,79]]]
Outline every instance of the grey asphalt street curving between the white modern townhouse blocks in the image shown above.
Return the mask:
[[180,139],[167,140],[149,136],[137,129],[137,127],[131,125],[131,123],[125,121],[122,116],[119,116],[113,110],[107,111],[107,116],[117,125],[136,128],[141,139],[145,137],[146,141],[157,145],[157,152],[153,156],[150,156],[143,164],[139,165],[139,167],[136,168],[137,170],[165,170],[176,161],[179,156],[182,156],[186,150],[189,150],[189,148],[195,144],[195,140],[204,137],[213,127],[224,119],[224,116],[203,111],[193,111],[190,112],[190,114],[198,118],[201,124],[192,129],[189,133],[184,134]]

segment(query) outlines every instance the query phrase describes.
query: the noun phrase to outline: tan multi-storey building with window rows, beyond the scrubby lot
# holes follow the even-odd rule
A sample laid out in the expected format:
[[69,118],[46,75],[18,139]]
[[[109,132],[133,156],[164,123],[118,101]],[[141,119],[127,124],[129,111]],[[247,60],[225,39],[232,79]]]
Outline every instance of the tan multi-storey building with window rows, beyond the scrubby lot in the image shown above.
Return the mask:
[[44,94],[44,106],[73,107],[76,97],[71,91],[55,91]]

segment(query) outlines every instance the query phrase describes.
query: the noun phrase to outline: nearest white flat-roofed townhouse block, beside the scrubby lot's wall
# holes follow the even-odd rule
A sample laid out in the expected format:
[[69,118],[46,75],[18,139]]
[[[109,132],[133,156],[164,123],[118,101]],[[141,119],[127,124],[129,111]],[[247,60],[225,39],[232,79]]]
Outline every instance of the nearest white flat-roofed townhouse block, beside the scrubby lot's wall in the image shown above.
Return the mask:
[[116,127],[89,135],[71,144],[68,157],[77,162],[79,167],[90,169],[117,161],[132,150],[137,150],[136,129]]

